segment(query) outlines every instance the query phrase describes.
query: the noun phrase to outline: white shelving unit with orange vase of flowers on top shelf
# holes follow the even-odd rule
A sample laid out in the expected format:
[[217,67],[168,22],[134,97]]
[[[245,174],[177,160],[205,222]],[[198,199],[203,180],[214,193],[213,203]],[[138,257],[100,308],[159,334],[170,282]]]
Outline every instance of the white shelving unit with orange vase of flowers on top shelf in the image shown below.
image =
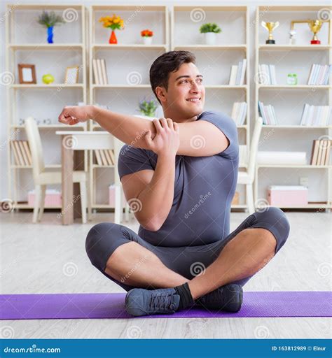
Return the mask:
[[[123,18],[125,29],[116,30],[117,44],[109,44],[109,29],[102,27],[99,18],[116,14]],[[108,106],[128,115],[139,114],[141,99],[155,99],[148,78],[148,70],[156,57],[167,52],[169,45],[169,17],[167,6],[96,5],[90,7],[89,89],[90,103]],[[144,45],[141,30],[153,31],[153,44]],[[92,59],[106,60],[108,85],[96,85]],[[120,65],[120,66],[119,66]],[[91,131],[102,130],[92,120]],[[94,153],[89,155],[90,193],[92,209],[110,209],[109,185],[118,178],[117,166],[97,165]],[[125,201],[123,201],[125,207]]]

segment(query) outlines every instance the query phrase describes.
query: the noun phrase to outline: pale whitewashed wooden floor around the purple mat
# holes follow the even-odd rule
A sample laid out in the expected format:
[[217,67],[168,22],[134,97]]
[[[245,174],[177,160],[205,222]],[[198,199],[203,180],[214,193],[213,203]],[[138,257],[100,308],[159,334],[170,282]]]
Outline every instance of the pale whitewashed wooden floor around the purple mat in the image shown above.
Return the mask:
[[[232,213],[233,231],[247,217]],[[331,289],[329,213],[287,213],[291,223],[284,248],[251,278],[247,291]],[[57,213],[32,224],[31,213],[2,213],[1,294],[124,292],[94,268],[85,236],[113,214],[62,226]],[[128,224],[137,231],[134,220]],[[168,318],[133,320],[5,320],[1,338],[330,338],[329,318]]]

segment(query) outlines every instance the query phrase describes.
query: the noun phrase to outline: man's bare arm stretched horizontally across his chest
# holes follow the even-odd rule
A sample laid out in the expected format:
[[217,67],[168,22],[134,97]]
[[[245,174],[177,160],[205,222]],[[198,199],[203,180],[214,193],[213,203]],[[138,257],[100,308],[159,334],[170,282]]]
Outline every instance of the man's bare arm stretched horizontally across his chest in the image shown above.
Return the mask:
[[[91,118],[120,141],[135,148],[149,149],[144,141],[144,134],[151,131],[152,138],[156,134],[155,126],[150,120],[122,115],[97,106],[92,106]],[[198,120],[178,125],[180,146],[177,155],[209,157],[228,148],[228,138],[210,122]]]

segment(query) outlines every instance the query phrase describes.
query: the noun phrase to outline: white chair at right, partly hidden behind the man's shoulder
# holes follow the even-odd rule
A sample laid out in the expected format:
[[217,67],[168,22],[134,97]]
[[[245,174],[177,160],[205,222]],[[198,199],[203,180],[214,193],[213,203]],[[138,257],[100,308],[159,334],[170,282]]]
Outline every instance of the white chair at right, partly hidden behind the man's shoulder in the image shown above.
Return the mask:
[[[246,185],[246,198],[249,214],[255,212],[254,206],[254,179],[256,171],[256,157],[258,151],[258,141],[261,136],[261,130],[263,126],[263,120],[258,117],[254,127],[254,133],[251,138],[249,158],[247,158],[247,170],[239,171],[237,176],[237,184]],[[240,158],[240,162],[244,162],[243,158]]]

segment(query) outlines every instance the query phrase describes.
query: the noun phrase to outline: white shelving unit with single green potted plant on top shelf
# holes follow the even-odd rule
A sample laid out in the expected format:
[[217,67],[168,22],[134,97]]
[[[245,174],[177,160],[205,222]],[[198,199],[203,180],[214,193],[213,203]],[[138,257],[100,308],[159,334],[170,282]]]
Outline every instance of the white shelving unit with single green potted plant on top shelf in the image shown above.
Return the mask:
[[[205,45],[200,26],[216,22],[222,32],[216,45]],[[247,102],[247,119],[238,125],[239,144],[250,144],[250,56],[249,11],[247,6],[174,6],[171,8],[171,49],[195,54],[206,89],[205,108],[231,114],[233,103]],[[230,34],[232,34],[230,36]],[[225,56],[227,55],[227,56]],[[247,59],[245,85],[228,85],[230,68]],[[241,170],[242,167],[240,167]],[[232,208],[247,208],[244,186],[238,185],[240,203]]]

